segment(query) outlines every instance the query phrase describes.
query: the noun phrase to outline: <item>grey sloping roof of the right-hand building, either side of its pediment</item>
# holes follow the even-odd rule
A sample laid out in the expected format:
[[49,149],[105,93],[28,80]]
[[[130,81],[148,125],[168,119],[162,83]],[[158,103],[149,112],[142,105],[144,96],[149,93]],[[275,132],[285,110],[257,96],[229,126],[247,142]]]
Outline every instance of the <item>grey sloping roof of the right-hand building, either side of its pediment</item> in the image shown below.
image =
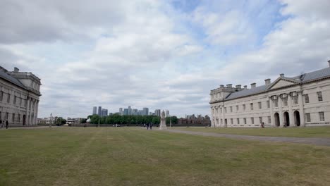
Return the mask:
[[[304,82],[309,82],[312,80],[318,80],[324,77],[330,77],[330,68],[323,68],[321,70],[316,70],[314,72],[310,72],[310,73],[305,73],[302,75],[298,75],[295,77],[281,77],[281,79],[283,80],[291,80],[291,81],[295,81],[297,83],[304,83]],[[271,84],[272,85],[272,84]],[[267,92],[267,89],[269,86],[271,85],[262,85],[259,87],[255,87],[252,89],[243,89],[239,92],[233,92],[231,94],[228,95],[228,97],[226,97],[225,100],[228,99],[236,99],[239,97],[246,97],[246,96],[250,96],[253,94],[259,94],[262,92]]]

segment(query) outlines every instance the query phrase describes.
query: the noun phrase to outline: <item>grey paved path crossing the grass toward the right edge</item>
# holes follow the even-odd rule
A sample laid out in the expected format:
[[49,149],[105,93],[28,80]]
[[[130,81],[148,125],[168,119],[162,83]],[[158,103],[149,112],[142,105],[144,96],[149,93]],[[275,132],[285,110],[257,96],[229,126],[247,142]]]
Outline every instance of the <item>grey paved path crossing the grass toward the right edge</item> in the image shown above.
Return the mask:
[[265,142],[290,142],[299,144],[314,144],[319,146],[330,147],[330,137],[268,137],[268,136],[250,136],[250,135],[228,135],[210,132],[193,132],[185,130],[166,130],[169,132],[184,133],[189,135],[203,135],[212,137],[227,137],[238,140],[257,140]]

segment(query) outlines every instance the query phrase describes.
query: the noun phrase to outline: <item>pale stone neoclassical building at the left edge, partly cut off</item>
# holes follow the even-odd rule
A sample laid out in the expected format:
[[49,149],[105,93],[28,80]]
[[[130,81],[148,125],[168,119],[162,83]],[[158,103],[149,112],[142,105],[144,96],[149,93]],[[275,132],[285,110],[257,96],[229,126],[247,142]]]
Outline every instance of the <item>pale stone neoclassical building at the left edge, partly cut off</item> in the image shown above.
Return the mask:
[[0,66],[0,118],[11,126],[37,125],[40,79],[32,73]]

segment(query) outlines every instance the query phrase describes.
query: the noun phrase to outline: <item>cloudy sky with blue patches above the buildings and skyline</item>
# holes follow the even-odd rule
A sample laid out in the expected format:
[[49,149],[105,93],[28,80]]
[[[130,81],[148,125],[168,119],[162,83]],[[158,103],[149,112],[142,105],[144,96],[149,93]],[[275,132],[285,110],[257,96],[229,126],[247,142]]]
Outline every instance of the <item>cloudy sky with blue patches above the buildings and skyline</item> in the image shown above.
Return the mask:
[[209,115],[209,92],[327,68],[329,0],[0,0],[0,66],[42,81],[39,116],[93,106]]

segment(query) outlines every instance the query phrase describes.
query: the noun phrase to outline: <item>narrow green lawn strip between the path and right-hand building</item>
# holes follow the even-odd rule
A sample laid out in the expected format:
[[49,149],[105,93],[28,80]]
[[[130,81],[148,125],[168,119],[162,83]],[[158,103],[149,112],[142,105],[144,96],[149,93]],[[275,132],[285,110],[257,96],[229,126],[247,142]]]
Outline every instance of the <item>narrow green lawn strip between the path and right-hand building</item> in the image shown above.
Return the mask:
[[330,137],[330,126],[306,128],[204,128],[178,127],[176,130],[213,132],[232,135],[285,136],[285,137]]

